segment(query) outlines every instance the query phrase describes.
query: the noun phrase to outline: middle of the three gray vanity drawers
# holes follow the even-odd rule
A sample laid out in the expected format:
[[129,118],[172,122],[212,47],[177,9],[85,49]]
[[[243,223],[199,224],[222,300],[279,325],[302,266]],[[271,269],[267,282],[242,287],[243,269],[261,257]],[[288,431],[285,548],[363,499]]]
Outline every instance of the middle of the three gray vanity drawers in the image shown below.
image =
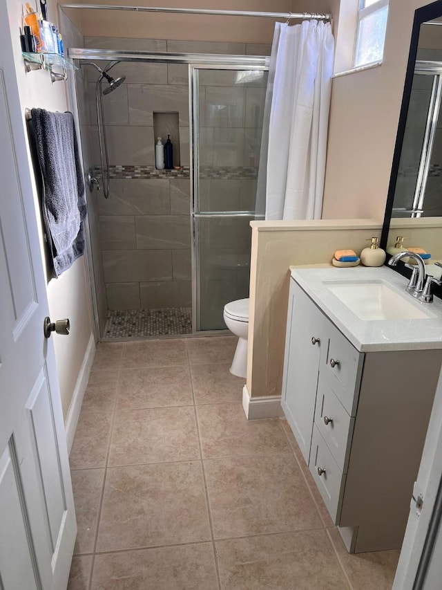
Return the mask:
[[323,375],[319,376],[315,424],[344,473],[347,472],[354,418],[347,414]]

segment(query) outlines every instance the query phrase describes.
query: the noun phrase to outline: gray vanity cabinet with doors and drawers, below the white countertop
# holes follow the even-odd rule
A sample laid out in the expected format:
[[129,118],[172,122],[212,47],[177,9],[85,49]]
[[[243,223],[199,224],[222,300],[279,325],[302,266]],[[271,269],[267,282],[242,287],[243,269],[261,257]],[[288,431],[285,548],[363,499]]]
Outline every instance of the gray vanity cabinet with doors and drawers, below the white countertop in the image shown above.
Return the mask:
[[401,547],[441,363],[356,350],[291,279],[282,409],[351,553]]

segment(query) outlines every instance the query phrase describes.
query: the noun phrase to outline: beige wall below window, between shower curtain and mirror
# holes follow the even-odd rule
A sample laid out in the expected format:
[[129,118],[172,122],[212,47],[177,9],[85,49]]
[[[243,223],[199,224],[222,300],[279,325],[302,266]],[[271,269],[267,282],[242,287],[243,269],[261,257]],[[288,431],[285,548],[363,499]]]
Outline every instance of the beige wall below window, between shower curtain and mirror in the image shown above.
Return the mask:
[[323,219],[383,219],[414,10],[390,0],[381,67],[333,81]]

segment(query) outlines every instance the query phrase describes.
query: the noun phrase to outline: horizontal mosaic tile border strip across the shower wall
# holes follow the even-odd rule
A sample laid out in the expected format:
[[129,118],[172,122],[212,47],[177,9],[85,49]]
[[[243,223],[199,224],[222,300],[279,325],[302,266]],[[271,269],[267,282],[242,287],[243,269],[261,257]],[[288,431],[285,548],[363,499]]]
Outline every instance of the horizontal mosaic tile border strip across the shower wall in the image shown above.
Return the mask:
[[[112,165],[109,166],[111,178],[190,178],[190,167],[182,166],[179,170],[157,170],[155,166]],[[101,170],[94,167],[95,178],[101,178]],[[202,166],[200,178],[236,181],[258,178],[258,167],[252,166]]]

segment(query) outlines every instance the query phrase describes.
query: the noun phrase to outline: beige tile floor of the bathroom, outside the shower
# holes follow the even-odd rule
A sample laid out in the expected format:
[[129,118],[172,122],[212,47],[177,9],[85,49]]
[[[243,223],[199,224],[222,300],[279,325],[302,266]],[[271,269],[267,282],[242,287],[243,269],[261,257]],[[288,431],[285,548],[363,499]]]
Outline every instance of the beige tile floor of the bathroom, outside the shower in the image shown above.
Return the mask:
[[99,344],[70,454],[68,590],[390,590],[348,555],[282,419],[247,421],[235,338]]

